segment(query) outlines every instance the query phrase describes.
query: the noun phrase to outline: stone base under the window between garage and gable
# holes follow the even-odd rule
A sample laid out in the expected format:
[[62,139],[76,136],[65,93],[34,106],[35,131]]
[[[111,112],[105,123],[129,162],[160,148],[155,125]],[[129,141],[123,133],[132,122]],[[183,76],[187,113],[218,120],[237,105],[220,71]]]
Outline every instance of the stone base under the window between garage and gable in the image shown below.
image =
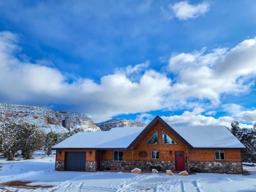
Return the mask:
[[101,160],[100,168],[102,170],[131,170],[131,161],[112,161],[112,160]]

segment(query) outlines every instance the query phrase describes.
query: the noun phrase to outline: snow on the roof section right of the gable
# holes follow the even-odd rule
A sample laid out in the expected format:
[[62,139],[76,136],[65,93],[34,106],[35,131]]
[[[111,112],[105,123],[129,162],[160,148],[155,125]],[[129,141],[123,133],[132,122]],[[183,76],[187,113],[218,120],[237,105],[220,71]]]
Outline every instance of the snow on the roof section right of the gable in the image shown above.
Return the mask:
[[173,129],[193,147],[245,147],[225,126],[181,126]]

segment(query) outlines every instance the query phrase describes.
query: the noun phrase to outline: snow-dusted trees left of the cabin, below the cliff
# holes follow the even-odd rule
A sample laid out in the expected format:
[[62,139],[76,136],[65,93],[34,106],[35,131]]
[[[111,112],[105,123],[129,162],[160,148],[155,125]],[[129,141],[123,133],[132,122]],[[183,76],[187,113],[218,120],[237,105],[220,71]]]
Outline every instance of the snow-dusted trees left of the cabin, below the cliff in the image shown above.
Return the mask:
[[13,160],[18,151],[22,151],[25,159],[32,158],[36,150],[44,150],[49,156],[52,152],[52,146],[62,140],[83,132],[81,128],[68,133],[45,133],[38,129],[38,126],[30,123],[7,122],[0,125],[0,153],[8,160]]

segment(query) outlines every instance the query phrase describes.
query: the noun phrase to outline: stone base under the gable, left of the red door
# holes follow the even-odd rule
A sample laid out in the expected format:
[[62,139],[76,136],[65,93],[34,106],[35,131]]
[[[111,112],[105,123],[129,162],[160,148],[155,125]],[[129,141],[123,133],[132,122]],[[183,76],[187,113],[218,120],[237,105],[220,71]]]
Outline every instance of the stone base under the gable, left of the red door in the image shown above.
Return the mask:
[[134,161],[134,167],[141,170],[151,171],[152,168],[157,170],[175,170],[175,161]]

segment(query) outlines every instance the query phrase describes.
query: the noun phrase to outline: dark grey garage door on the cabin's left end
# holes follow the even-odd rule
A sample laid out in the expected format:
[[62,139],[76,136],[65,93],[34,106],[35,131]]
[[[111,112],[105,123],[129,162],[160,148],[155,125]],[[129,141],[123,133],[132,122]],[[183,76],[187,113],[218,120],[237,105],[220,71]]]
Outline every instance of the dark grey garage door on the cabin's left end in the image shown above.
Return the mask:
[[65,163],[66,163],[66,170],[84,172],[84,170],[86,170],[86,153],[66,152]]

